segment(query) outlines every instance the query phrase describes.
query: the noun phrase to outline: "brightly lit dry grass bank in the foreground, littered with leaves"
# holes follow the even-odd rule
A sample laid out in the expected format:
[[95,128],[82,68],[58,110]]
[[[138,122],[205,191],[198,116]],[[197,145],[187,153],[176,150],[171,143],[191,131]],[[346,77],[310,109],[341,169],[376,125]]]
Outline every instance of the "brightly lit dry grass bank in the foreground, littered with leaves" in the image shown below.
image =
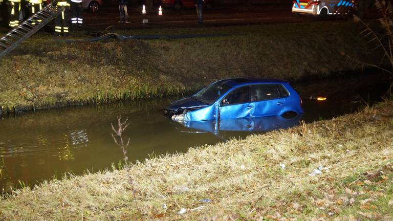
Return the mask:
[[392,108],[68,175],[0,200],[0,219],[391,220]]

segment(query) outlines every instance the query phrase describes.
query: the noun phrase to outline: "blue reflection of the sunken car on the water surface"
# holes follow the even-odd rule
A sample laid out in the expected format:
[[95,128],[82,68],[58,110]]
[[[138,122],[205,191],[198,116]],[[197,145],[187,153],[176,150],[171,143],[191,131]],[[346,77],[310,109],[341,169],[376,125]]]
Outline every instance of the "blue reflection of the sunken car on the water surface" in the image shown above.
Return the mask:
[[192,129],[187,132],[206,131],[214,135],[220,135],[222,131],[271,131],[285,129],[299,124],[303,115],[271,116],[240,118],[210,121],[181,121],[179,122],[186,128]]

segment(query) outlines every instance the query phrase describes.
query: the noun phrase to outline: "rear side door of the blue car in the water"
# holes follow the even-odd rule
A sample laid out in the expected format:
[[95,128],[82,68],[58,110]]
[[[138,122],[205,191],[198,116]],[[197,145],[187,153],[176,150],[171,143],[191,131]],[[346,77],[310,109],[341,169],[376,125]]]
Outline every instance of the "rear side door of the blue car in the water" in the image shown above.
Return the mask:
[[255,84],[251,86],[251,102],[255,104],[255,117],[277,116],[285,106],[278,84]]

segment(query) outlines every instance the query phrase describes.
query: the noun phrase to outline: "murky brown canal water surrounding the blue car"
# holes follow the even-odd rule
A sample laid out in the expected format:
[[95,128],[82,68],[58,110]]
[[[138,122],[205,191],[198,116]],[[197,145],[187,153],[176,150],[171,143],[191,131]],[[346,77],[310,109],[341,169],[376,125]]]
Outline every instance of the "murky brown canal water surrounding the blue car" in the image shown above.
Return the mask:
[[[305,112],[292,122],[297,124],[300,119],[312,122],[356,111],[363,103],[361,100],[381,100],[388,88],[388,79],[363,75],[294,85],[303,96]],[[322,102],[307,99],[311,95],[325,95],[328,99]],[[258,133],[225,130],[224,126],[216,133],[201,132],[171,122],[163,115],[162,108],[172,100],[63,107],[3,117],[0,120],[0,188],[7,192],[10,187],[19,187],[19,181],[34,186],[55,174],[60,178],[64,172],[81,174],[86,169],[94,172],[119,162],[123,155],[111,137],[111,123],[115,125],[119,115],[130,122],[123,133],[124,138],[130,138],[127,152],[130,161]],[[248,124],[245,126],[249,129]],[[252,122],[252,125],[263,123]]]

